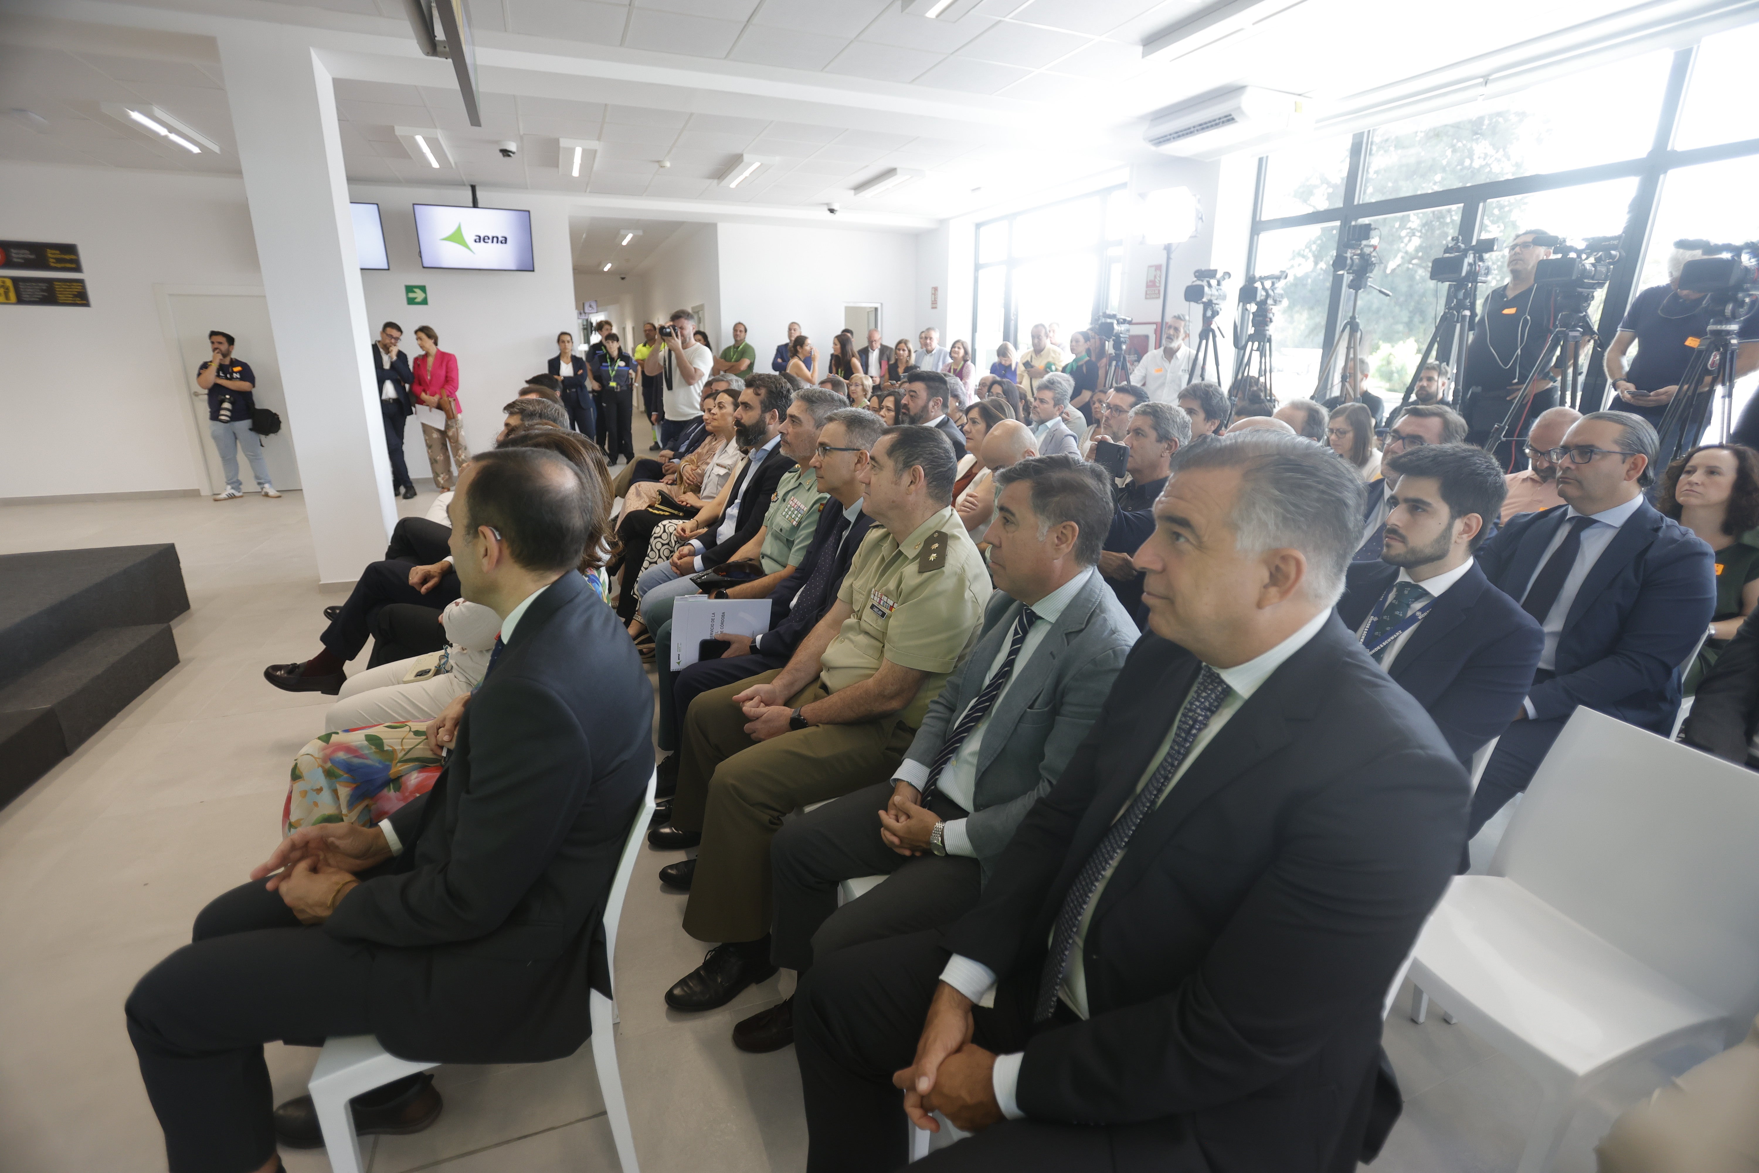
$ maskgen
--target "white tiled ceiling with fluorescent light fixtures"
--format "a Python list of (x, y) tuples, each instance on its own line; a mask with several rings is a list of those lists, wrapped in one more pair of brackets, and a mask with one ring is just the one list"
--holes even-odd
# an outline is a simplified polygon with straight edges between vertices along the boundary
[[(1143, 60), (1145, 40), (1233, 5), (978, 0), (955, 21), (904, 14), (901, 0), (466, 7), (482, 65), (480, 128), (468, 125), (449, 65), (410, 58), (403, 0), (127, 0), (113, 11), (141, 14), (130, 28), (60, 19), (69, 9), (51, 0), (0, 0), (0, 14), (33, 12), (0, 16), (0, 109), (47, 120), (35, 130), (0, 120), (0, 158), (236, 172), (223, 72), (202, 35), (218, 12), (380, 55), (362, 58), (385, 63), (366, 76), (389, 79), (336, 84), (350, 179), (577, 192), (584, 204), (630, 200), (633, 211), (668, 200), (647, 209), (668, 215), (677, 200), (728, 211), (850, 200), (888, 167), (911, 167), (925, 178), (848, 208), (943, 218), (1154, 158), (1140, 142), (1143, 116), (1224, 86), (1303, 93), (1325, 109), (1608, 9), (1604, 0), (1277, 0), (1259, 25), (1210, 49)], [(158, 30), (142, 26), (155, 21)], [(158, 104), (223, 153), (192, 157), (99, 109), (121, 100)], [(440, 128), (454, 162), (436, 172), (412, 160), (398, 125)], [(558, 171), (563, 137), (603, 144), (589, 176)], [(519, 142), (515, 158), (500, 157), (501, 139)], [(737, 190), (718, 186), (741, 153), (776, 164)], [(642, 237), (644, 248), (654, 243)]]

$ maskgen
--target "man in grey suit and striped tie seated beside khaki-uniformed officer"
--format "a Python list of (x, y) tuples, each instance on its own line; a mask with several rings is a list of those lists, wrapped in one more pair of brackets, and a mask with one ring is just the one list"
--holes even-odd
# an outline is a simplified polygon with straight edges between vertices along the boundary
[[(1136, 624), (1094, 570), (1112, 485), (1073, 455), (1029, 457), (996, 473), (990, 572), (1001, 587), (971, 656), (929, 705), (892, 783), (857, 790), (777, 832), (770, 844), (770, 960), (814, 958), (957, 920), (990, 862), (1057, 781), (1099, 716)], [(837, 907), (837, 885), (887, 874)], [(792, 1002), (734, 1027), (770, 1052), (793, 1041)]]

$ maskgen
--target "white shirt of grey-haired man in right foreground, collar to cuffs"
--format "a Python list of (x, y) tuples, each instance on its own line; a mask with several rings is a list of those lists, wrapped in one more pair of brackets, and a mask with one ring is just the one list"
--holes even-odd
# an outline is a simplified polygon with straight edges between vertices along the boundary
[[(1215, 733), (1228, 725), (1228, 719), (1240, 710), (1240, 705), (1251, 700), (1252, 693), (1256, 693), (1289, 656), (1305, 647), (1312, 637), (1319, 635), (1319, 628), (1323, 628), (1330, 617), (1332, 612), (1323, 610), (1309, 619), (1300, 631), (1282, 640), (1270, 651), (1233, 668), (1215, 668), (1215, 674), (1228, 684), (1228, 698), (1223, 700), (1215, 716), (1208, 719), (1208, 725), (1205, 725), (1196, 735), (1196, 740), (1191, 742), (1191, 749), (1186, 753), (1184, 761), (1179, 763), (1179, 770), (1173, 774), (1173, 781), (1161, 795), (1161, 802), (1166, 802), (1166, 795), (1173, 793), (1173, 788), (1179, 786), (1179, 779), (1186, 776), (1191, 763), (1198, 760), (1198, 754), (1201, 754), (1203, 749), (1215, 740)], [(1113, 821), (1129, 809), (1129, 802), (1135, 800), (1136, 793), (1149, 784), (1149, 779), (1154, 777), (1154, 772), (1161, 767), (1161, 761), (1173, 746), (1173, 733), (1179, 732), (1179, 714), (1184, 712), (1186, 703), (1189, 702), (1191, 695), (1187, 691), (1186, 698), (1179, 703), (1179, 712), (1175, 712), (1173, 719), (1166, 725), (1166, 737), (1163, 737), (1159, 747), (1149, 754), (1147, 769), (1142, 772), (1142, 777), (1136, 779), (1136, 788), (1131, 791), (1129, 800), (1126, 800), (1124, 805), (1119, 807), (1117, 814), (1113, 814)], [(1126, 846), (1124, 851), (1129, 851), (1129, 848)], [(1124, 858), (1122, 853), (1119, 853), (1119, 858)], [(1087, 1016), (1087, 973), (1082, 967), (1082, 946), (1087, 939), (1087, 922), (1092, 920), (1094, 909), (1099, 907), (1099, 897), (1105, 892), (1106, 883), (1112, 879), (1113, 871), (1117, 871), (1117, 860), (1113, 860), (1112, 867), (1106, 869), (1106, 874), (1099, 878), (1099, 886), (1094, 888), (1094, 895), (1087, 902), (1087, 909), (1082, 913), (1080, 929), (1075, 932), (1075, 946), (1069, 950), (1069, 971), (1064, 974), (1062, 987), (1059, 988), (1062, 1001), (1082, 1018)], [(1055, 929), (1052, 929), (1052, 936), (1055, 936)], [(996, 994), (996, 973), (989, 965), (974, 962), (969, 957), (960, 957), (959, 953), (953, 953), (946, 960), (946, 967), (941, 971), (941, 981), (978, 1004), (990, 1004)], [(996, 1103), (1001, 1106), (1003, 1115), (1010, 1120), (1020, 1120), (1025, 1117), (1015, 1099), (1015, 1089), (1020, 1082), (1022, 1059), (1025, 1059), (1025, 1052), (996, 1055), (992, 1087), (996, 1090)]]

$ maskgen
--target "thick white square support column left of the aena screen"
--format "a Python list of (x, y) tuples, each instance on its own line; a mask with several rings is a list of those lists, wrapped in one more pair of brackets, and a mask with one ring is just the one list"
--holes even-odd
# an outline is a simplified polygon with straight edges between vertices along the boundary
[[(220, 60), (322, 584), (398, 521), (329, 70), (290, 28), (227, 28)], [(417, 443), (420, 443), (417, 440)]]

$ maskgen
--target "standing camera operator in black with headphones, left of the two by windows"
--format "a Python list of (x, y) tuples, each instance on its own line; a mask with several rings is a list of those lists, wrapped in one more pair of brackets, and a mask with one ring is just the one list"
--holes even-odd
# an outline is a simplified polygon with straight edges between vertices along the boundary
[[(1509, 244), (1509, 281), (1485, 294), (1485, 310), (1465, 350), (1465, 371), (1460, 385), (1467, 389), (1460, 403), (1465, 417), (1465, 441), (1483, 447), (1490, 433), (1509, 413), (1509, 404), (1522, 392), (1522, 380), (1534, 369), (1551, 332), (1551, 292), (1534, 285), (1534, 271), (1551, 255), (1550, 244), (1539, 239), (1555, 237), (1539, 230), (1525, 230)], [(1518, 473), (1525, 464), (1522, 438), (1532, 431), (1539, 413), (1557, 406), (1557, 380), (1553, 371), (1534, 378), (1534, 397), (1516, 417), (1509, 433), (1497, 445), (1493, 457), (1504, 470)]]

